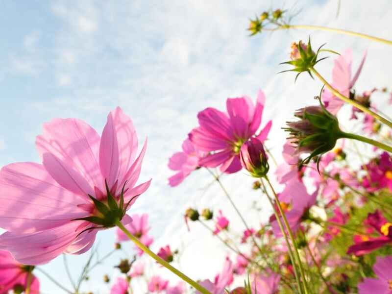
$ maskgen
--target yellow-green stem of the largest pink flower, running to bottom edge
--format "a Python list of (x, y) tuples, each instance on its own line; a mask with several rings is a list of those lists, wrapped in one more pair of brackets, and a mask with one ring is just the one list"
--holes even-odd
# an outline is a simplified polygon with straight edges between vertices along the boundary
[(182, 280), (187, 282), (189, 285), (194, 287), (197, 291), (199, 291), (202, 294), (211, 294), (207, 289), (196, 283), (194, 280), (192, 280), (190, 277), (182, 273), (181, 271), (177, 270), (174, 268), (172, 265), (170, 265), (168, 262), (164, 261), (162, 258), (160, 258), (158, 255), (156, 255), (154, 252), (152, 252), (146, 245), (141, 243), (138, 238), (133, 236), (121, 223), (121, 221), (117, 220), (116, 225), (124, 232), (124, 234), (131, 240), (133, 243), (135, 243), (140, 249), (142, 249), (147, 255), (152, 257), (155, 261), (157, 261), (159, 264), (167, 268), (168, 270), (172, 271), (172, 273), (176, 274), (178, 277), (180, 277)]

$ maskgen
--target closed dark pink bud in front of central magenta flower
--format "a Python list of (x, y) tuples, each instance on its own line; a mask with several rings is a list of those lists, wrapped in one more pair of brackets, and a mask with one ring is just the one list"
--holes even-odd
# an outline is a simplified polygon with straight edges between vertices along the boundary
[(263, 143), (256, 138), (250, 138), (242, 145), (240, 160), (242, 167), (256, 178), (264, 177), (270, 169)]

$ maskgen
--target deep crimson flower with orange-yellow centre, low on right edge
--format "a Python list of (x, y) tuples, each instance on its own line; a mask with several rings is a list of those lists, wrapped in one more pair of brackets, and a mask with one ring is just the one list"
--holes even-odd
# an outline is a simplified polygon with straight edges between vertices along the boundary
[(348, 247), (347, 254), (364, 255), (392, 243), (392, 223), (388, 222), (379, 210), (369, 213), (365, 224), (374, 229), (380, 237), (354, 236), (355, 244)]

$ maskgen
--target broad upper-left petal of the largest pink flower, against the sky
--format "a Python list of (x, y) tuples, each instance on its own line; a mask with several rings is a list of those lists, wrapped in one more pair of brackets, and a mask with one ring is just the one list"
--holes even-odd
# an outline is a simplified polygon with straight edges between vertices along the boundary
[(41, 157), (52, 153), (79, 172), (91, 187), (102, 185), (98, 165), (99, 135), (87, 123), (76, 119), (55, 119), (44, 124), (36, 147)]

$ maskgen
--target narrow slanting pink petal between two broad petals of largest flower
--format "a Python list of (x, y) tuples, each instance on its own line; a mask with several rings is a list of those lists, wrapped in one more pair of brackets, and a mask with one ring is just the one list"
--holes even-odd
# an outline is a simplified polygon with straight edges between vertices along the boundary
[(43, 155), (43, 165), (50, 176), (63, 188), (80, 196), (94, 195), (93, 188), (72, 166), (61, 161), (52, 153)]

